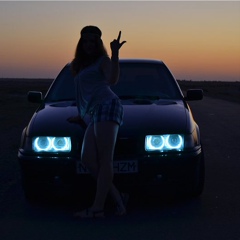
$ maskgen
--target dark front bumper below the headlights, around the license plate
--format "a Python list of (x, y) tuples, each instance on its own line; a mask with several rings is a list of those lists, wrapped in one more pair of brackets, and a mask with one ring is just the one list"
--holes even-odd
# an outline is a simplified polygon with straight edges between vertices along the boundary
[[(203, 152), (171, 155), (144, 155), (116, 157), (116, 161), (138, 162), (138, 172), (115, 174), (114, 183), (121, 191), (141, 189), (148, 192), (190, 187), (203, 158)], [(71, 186), (78, 189), (92, 184), (90, 174), (77, 174), (77, 157), (30, 156), (19, 151), (22, 177), (32, 185)]]

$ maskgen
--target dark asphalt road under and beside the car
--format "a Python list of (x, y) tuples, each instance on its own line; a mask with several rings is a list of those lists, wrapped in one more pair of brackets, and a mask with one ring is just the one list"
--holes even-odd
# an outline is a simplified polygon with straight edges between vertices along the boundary
[[(201, 197), (173, 202), (148, 198), (132, 204), (122, 218), (76, 221), (71, 201), (28, 204), (18, 174), (13, 174), (1, 199), (1, 240), (239, 240), (240, 104), (205, 98), (190, 106), (205, 150)], [(18, 169), (16, 160), (9, 164)]]

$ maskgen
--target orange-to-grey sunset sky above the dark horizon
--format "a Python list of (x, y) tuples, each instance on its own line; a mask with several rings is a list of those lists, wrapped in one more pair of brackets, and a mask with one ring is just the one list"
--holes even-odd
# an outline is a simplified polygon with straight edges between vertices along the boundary
[(163, 60), (177, 79), (240, 81), (240, 1), (0, 1), (0, 78), (55, 78), (97, 25), (122, 58)]

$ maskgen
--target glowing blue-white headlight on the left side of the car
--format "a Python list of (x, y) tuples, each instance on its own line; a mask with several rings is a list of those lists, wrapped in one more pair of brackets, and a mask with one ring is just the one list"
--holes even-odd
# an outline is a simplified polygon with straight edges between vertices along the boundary
[(70, 137), (35, 137), (32, 142), (35, 152), (70, 152)]

